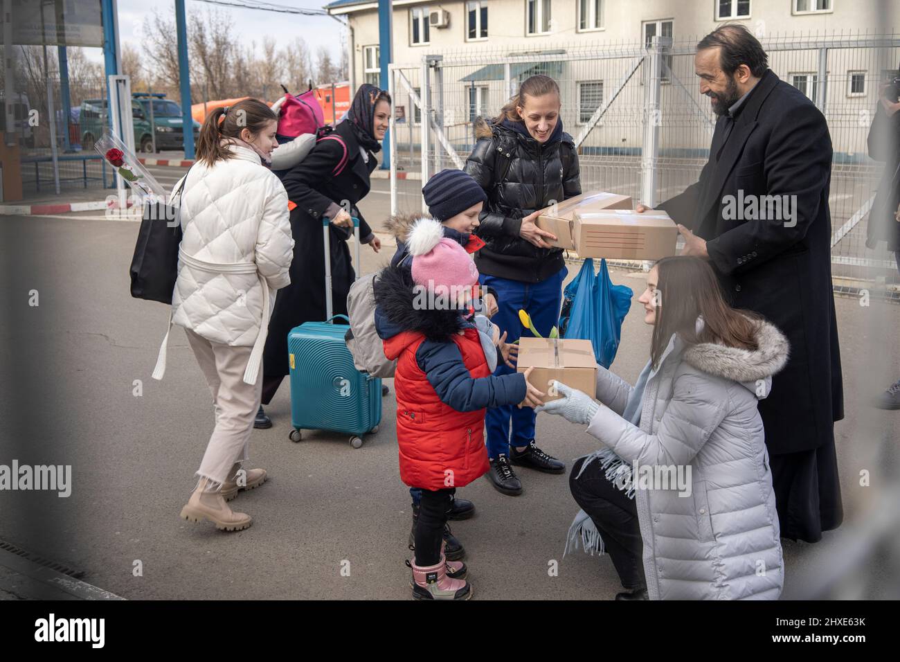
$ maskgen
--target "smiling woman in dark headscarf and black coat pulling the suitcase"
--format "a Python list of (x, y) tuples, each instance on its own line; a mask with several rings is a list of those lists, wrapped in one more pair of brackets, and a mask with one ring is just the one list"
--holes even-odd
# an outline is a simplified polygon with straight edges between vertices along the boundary
[[(291, 212), (295, 249), (291, 285), (278, 292), (263, 355), (262, 404), (272, 401), (289, 372), (287, 334), (303, 322), (325, 320), (325, 256), (322, 218), (328, 218), (331, 245), (331, 293), (334, 313), (347, 314), (347, 292), (354, 280), (347, 240), (353, 236), (352, 217), (359, 218), (359, 236), (375, 252), (375, 237), (356, 203), (369, 193), (369, 176), (377, 166), (375, 152), (382, 149), (391, 116), (391, 96), (363, 85), (347, 115), (333, 131), (320, 138), (311, 152), (282, 177)], [(339, 322), (339, 321), (338, 321)], [(262, 405), (257, 428), (272, 427)]]

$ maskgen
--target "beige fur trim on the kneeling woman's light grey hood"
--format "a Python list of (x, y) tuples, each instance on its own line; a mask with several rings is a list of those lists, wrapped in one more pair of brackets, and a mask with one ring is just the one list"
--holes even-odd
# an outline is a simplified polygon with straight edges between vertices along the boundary
[[(761, 321), (756, 331), (757, 349), (725, 347), (701, 342), (685, 349), (684, 360), (708, 375), (741, 382), (751, 388), (770, 377), (788, 362), (789, 344), (784, 334), (770, 322)], [(751, 388), (752, 391), (757, 389)], [(768, 391), (768, 389), (767, 389)]]

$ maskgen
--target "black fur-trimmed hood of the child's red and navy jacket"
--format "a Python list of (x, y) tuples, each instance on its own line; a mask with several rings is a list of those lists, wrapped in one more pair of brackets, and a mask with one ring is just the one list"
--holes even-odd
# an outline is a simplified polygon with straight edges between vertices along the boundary
[(456, 331), (472, 325), (463, 319), (465, 311), (432, 310), (415, 305), (415, 287), (409, 267), (383, 268), (375, 277), (375, 329), (382, 340), (412, 331), (428, 340), (447, 342)]

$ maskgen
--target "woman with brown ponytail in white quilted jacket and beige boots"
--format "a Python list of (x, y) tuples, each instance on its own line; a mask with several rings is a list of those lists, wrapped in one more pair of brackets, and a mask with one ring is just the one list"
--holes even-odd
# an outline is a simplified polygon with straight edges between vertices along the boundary
[[(262, 393), (259, 372), (275, 291), (291, 282), (287, 194), (267, 167), (278, 145), (277, 119), (256, 99), (214, 110), (203, 122), (197, 162), (180, 200), (183, 239), (172, 323), (184, 327), (215, 408), (200, 479), (181, 516), (224, 531), (251, 523), (226, 502), (266, 481), (264, 469), (242, 463)], [(157, 379), (166, 367), (167, 338)]]

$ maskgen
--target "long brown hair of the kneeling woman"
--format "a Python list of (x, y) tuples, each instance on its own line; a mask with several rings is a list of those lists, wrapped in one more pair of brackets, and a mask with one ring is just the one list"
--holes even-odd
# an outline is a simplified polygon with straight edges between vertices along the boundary
[[(657, 269), (659, 292), (650, 358), (659, 367), (673, 333), (694, 345), (716, 342), (726, 347), (757, 349), (756, 332), (761, 318), (725, 303), (713, 268), (701, 258), (662, 258)], [(703, 330), (697, 332), (697, 318)]]

